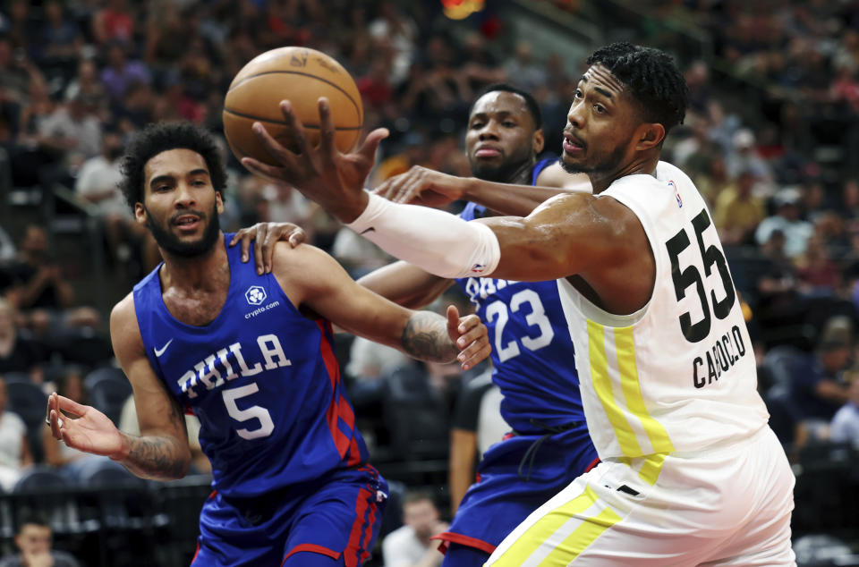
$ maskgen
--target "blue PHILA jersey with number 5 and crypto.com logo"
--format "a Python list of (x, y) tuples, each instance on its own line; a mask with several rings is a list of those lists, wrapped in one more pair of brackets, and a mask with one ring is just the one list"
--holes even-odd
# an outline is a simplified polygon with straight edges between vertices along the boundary
[(160, 266), (134, 286), (149, 363), (200, 419), (212, 486), (250, 498), (366, 461), (330, 324), (303, 317), (274, 275), (240, 261), (240, 247), (226, 254), (229, 291), (206, 326), (166, 309)]

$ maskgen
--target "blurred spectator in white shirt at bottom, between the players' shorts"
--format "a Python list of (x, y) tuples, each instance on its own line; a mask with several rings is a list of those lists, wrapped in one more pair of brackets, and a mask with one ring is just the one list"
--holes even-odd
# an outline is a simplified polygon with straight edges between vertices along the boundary
[(403, 523), (382, 541), (385, 567), (437, 567), (442, 555), (430, 541), (447, 529), (436, 503), (426, 492), (410, 492), (403, 499)]

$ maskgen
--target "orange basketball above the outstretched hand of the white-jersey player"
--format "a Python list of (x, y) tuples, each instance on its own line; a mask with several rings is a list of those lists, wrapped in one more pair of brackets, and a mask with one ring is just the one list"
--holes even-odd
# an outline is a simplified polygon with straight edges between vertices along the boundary
[(248, 156), (277, 165), (251, 130), (262, 123), (286, 148), (294, 148), (280, 101), (289, 100), (311, 145), (319, 143), (319, 97), (327, 97), (340, 151), (353, 148), (361, 136), (361, 94), (343, 65), (315, 49), (279, 47), (242, 67), (226, 91), (224, 133), (235, 157)]

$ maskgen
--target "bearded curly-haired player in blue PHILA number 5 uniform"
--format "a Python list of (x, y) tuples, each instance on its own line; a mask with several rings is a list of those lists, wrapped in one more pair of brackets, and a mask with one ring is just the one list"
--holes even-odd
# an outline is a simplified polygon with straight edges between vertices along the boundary
[(190, 124), (132, 141), (123, 190), (165, 258), (111, 314), (141, 435), (57, 394), (50, 426), (140, 477), (181, 478), (191, 457), (182, 413), (192, 411), (214, 477), (194, 565), (361, 565), (387, 485), (355, 428), (328, 320), (422, 360), (461, 351), (464, 367), (488, 355), (486, 329), (455, 308), (446, 321), (384, 300), (310, 246), (278, 247), (276, 268), (257, 275), (218, 228), (224, 182), (217, 146)]

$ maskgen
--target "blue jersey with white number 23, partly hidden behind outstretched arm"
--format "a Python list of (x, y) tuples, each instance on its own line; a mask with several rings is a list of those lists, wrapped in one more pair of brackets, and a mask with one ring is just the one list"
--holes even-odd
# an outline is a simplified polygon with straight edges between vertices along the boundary
[[(532, 184), (555, 161), (538, 162)], [(484, 212), (484, 207), (469, 203), (460, 216), (472, 220)], [(489, 328), (492, 379), (504, 394), (501, 415), (507, 424), (519, 432), (536, 432), (542, 426), (583, 423), (573, 341), (557, 283), (490, 277), (459, 278), (456, 283)]]

